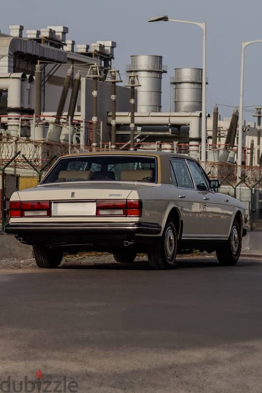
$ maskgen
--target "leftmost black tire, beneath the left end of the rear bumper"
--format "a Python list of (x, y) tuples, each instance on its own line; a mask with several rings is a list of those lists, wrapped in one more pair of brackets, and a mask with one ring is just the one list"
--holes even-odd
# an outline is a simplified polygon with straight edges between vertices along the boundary
[(50, 250), (45, 246), (34, 244), (33, 255), (38, 267), (55, 269), (61, 263), (63, 252), (58, 250)]

